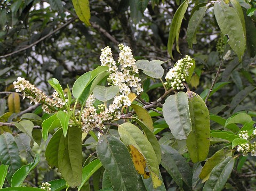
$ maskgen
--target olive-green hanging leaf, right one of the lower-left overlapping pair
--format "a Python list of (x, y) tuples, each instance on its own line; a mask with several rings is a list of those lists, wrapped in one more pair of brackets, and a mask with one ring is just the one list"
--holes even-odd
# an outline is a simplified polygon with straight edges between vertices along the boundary
[(82, 181), (81, 140), (81, 128), (71, 126), (68, 128), (67, 136), (62, 135), (58, 144), (58, 168), (72, 188), (81, 185)]

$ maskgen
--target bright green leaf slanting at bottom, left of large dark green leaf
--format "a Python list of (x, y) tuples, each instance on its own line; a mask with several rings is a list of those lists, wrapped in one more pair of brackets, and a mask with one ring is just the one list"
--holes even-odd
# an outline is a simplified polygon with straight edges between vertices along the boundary
[(82, 184), (78, 186), (78, 190), (82, 188), (82, 186), (85, 184), (87, 180), (93, 175), (94, 172), (96, 172), (100, 167), (102, 167), (102, 164), (99, 159), (96, 159), (89, 164), (87, 164), (83, 168), (82, 172)]

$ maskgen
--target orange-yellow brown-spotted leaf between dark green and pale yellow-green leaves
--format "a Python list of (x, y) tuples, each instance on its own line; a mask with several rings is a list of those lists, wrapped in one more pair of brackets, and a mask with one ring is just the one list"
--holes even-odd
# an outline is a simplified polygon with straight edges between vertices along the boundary
[(129, 145), (132, 162), (136, 171), (143, 175), (143, 178), (149, 178), (149, 172), (145, 169), (147, 167), (145, 157), (133, 145)]

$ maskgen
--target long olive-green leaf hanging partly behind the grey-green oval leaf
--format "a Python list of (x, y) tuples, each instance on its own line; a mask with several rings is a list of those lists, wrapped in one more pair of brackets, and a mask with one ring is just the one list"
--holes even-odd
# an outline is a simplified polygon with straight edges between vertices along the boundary
[(188, 153), (192, 162), (206, 159), (210, 146), (210, 117), (203, 99), (194, 92), (187, 92), (191, 132), (187, 138)]

